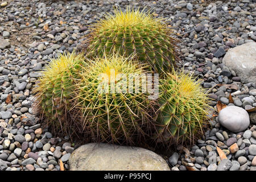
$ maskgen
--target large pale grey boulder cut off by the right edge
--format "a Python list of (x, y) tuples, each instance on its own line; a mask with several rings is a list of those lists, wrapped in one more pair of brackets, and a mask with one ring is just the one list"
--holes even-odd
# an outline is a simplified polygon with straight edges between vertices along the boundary
[(233, 69), (242, 82), (256, 82), (256, 42), (230, 48), (222, 63)]

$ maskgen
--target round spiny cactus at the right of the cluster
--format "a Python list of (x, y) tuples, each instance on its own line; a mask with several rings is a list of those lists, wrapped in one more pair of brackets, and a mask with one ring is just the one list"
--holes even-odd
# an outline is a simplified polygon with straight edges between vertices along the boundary
[(168, 144), (182, 143), (203, 134), (209, 119), (209, 98), (200, 80), (188, 73), (168, 73), (159, 80), (159, 113), (156, 119), (159, 139)]

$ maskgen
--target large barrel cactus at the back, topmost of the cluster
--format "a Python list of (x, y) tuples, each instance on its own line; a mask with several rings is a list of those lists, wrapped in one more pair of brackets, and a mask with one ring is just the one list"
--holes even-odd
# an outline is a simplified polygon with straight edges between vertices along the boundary
[(170, 71), (179, 62), (177, 40), (171, 34), (167, 24), (153, 18), (150, 11), (115, 10), (114, 15), (108, 14), (92, 28), (88, 56), (136, 53), (139, 61), (148, 64), (147, 69), (157, 73)]

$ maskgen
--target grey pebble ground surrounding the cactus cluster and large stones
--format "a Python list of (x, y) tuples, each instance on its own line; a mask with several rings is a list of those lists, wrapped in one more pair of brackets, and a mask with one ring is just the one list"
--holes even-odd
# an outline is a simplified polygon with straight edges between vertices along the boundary
[[(205, 1), (205, 2), (204, 2)], [(53, 138), (36, 123), (32, 112), (32, 86), (49, 58), (80, 47), (90, 24), (113, 12), (113, 6), (152, 9), (181, 39), (181, 59), (187, 72), (203, 78), (217, 101), (244, 109), (256, 106), (255, 82), (241, 82), (236, 72), (222, 64), (229, 48), (256, 41), (254, 0), (241, 1), (40, 1), (46, 16), (39, 16), (39, 1), (0, 3), (0, 171), (60, 170), (59, 159), (69, 169), (69, 156), (79, 146), (68, 137)], [(212, 15), (209, 10), (213, 10)], [(216, 86), (229, 84), (229, 86)], [(230, 87), (230, 84), (233, 86)], [(234, 103), (229, 103), (232, 93)], [(27, 119), (26, 117), (29, 119)], [(232, 133), (218, 122), (188, 150), (164, 156), (170, 168), (180, 170), (256, 170), (256, 115), (249, 127)], [(220, 162), (217, 147), (227, 159)]]

